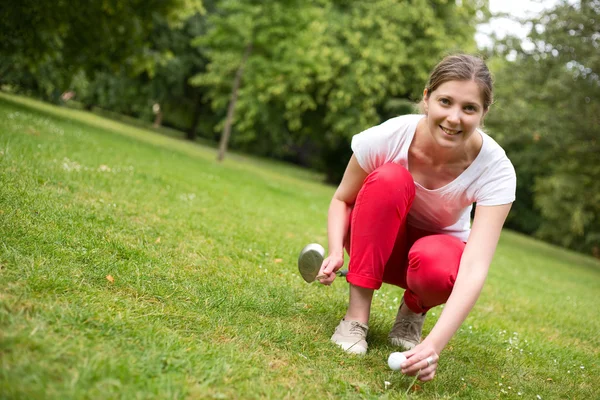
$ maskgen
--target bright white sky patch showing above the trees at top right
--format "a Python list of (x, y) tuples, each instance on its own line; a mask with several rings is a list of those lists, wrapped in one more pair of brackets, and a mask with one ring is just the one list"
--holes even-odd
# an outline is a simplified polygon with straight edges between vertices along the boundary
[[(523, 18), (536, 16), (541, 11), (556, 5), (559, 0), (489, 0), (489, 2), (492, 13), (506, 12)], [(507, 32), (525, 37), (529, 33), (529, 29), (525, 25), (507, 18), (493, 19), (489, 24), (483, 24), (477, 28), (475, 39), (479, 47), (491, 45), (491, 41), (486, 37), (486, 34), (491, 32), (496, 32), (499, 37), (505, 36)]]

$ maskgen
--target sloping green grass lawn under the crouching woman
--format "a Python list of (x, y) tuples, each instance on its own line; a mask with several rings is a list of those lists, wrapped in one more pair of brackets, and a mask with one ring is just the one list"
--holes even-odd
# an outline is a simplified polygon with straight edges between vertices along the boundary
[(504, 232), (411, 387), (385, 362), (401, 289), (347, 357), (347, 284), (296, 274), (326, 240), (318, 175), (5, 94), (0, 120), (0, 398), (600, 398), (596, 260)]

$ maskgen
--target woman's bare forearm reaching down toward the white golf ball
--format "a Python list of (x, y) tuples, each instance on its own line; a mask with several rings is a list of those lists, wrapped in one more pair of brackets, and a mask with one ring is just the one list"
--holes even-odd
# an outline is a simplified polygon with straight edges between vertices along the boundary
[(469, 315), (479, 298), (486, 276), (487, 268), (461, 265), (442, 315), (425, 339), (436, 348), (438, 354)]

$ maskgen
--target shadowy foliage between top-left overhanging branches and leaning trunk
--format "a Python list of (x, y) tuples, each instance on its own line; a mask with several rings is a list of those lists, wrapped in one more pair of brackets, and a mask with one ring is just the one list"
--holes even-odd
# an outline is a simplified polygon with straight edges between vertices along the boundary
[[(201, 97), (188, 79), (205, 67), (203, 55), (190, 42), (204, 29), (205, 18), (200, 14), (188, 17), (176, 27), (155, 15), (145, 49), (148, 63), (135, 69), (134, 60), (128, 59), (117, 72), (101, 70), (93, 77), (75, 80), (72, 88), (77, 99), (89, 106), (145, 120), (153, 119), (152, 105), (159, 103), (167, 124), (188, 129)], [(205, 118), (210, 119), (206, 114)]]

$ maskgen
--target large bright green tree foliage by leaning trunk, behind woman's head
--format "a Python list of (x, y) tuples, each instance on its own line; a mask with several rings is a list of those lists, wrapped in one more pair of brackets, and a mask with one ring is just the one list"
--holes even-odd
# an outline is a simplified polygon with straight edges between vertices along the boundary
[[(229, 101), (246, 44), (234, 143), (285, 157), (308, 146), (310, 163), (339, 179), (348, 141), (381, 122), (390, 98), (416, 99), (429, 69), (452, 49), (474, 48), (486, 3), (377, 0), (223, 1), (198, 39), (210, 64), (192, 82), (213, 109)], [(217, 129), (221, 129), (218, 126)], [(327, 157), (328, 154), (340, 157)]]

